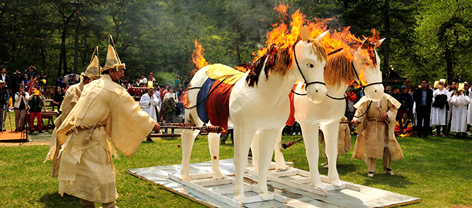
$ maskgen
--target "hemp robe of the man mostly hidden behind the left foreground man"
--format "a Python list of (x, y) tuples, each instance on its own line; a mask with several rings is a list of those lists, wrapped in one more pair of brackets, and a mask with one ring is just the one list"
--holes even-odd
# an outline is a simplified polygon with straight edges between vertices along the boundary
[(59, 150), (61, 149), (61, 146), (64, 144), (64, 141), (58, 141), (57, 140), (57, 128), (61, 126), (62, 120), (67, 118), (69, 115), (70, 111), (74, 109), (75, 104), (77, 104), (77, 101), (80, 98), (80, 95), (82, 94), (82, 90), (84, 90), (84, 80), (81, 80), (78, 84), (74, 84), (67, 89), (66, 93), (64, 94), (64, 100), (62, 100), (62, 104), (60, 106), (60, 110), (62, 111), (62, 114), (60, 116), (57, 116), (57, 119), (54, 121), (54, 130), (52, 131), (52, 138), (51, 138), (51, 143), (49, 146), (49, 152), (46, 155), (46, 162), (47, 160), (52, 160), (51, 164), (51, 174), (52, 177), (57, 177), (57, 172), (59, 171), (59, 163), (57, 163), (60, 158), (57, 158), (59, 156)]

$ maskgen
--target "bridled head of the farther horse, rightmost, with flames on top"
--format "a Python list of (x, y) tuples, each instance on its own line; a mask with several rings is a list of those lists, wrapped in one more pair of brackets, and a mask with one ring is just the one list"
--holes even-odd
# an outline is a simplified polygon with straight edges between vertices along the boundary
[(356, 81), (364, 87), (364, 94), (367, 99), (374, 102), (383, 97), (382, 74), (380, 70), (380, 58), (378, 58), (376, 48), (380, 46), (385, 38), (371, 43), (369, 39), (354, 51), (354, 70)]

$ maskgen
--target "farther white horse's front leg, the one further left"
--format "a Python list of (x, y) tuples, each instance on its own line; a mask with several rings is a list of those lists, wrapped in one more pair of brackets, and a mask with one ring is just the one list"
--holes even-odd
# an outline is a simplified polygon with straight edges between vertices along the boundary
[(320, 172), (318, 170), (318, 159), (320, 157), (320, 148), (318, 147), (319, 125), (308, 125), (303, 122), (299, 123), (303, 132), (306, 158), (310, 167), (310, 181), (313, 186), (324, 190), (326, 189), (326, 185), (321, 182)]

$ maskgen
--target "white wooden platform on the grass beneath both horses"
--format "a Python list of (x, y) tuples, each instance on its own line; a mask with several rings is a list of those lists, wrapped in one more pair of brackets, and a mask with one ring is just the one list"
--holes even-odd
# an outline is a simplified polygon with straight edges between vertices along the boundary
[[(250, 161), (249, 164), (250, 166)], [(191, 182), (181, 179), (180, 165), (154, 166), (126, 170), (142, 180), (164, 186), (167, 190), (191, 199), (207, 207), (398, 207), (420, 202), (421, 199), (379, 190), (350, 182), (342, 186), (318, 190), (310, 184), (308, 172), (296, 168), (277, 172), (269, 171), (267, 188), (274, 193), (269, 201), (262, 201), (254, 185), (257, 175), (253, 170), (245, 173), (245, 204), (236, 202), (234, 197), (234, 165), (232, 159), (220, 160), (220, 167), (225, 178), (213, 180), (211, 162), (192, 163)], [(273, 169), (272, 167), (271, 169)], [(252, 172), (252, 173), (251, 173)], [(322, 182), (327, 177), (322, 175)], [(326, 196), (323, 196), (326, 193)]]

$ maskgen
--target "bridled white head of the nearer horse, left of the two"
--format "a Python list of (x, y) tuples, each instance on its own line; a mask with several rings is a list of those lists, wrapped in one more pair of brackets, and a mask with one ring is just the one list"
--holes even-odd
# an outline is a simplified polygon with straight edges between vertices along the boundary
[(327, 55), (321, 44), (322, 38), (328, 31), (322, 33), (316, 39), (310, 39), (310, 31), (304, 26), (301, 32), (301, 40), (293, 45), (292, 70), (301, 82), (304, 82), (308, 99), (315, 104), (323, 101), (327, 89), (323, 77)]

